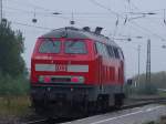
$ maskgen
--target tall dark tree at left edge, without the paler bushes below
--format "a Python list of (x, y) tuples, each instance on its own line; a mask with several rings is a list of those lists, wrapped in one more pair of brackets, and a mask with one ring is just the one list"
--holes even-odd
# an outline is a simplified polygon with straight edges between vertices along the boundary
[(25, 72), (21, 54), (24, 51), (24, 38), (20, 31), (13, 31), (10, 23), (0, 24), (0, 71), (14, 78)]

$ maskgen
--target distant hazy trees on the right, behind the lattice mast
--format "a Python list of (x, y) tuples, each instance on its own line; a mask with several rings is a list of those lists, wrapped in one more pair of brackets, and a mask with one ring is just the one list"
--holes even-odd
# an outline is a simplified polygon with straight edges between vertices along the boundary
[[(146, 74), (133, 78), (133, 84), (125, 86), (129, 92), (137, 94), (156, 94), (158, 89), (166, 90), (166, 72), (156, 72), (151, 74), (151, 82), (146, 82)], [(128, 92), (127, 91), (127, 92)]]

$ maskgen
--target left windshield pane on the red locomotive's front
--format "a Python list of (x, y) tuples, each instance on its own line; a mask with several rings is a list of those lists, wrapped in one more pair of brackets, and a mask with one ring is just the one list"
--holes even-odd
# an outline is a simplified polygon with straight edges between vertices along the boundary
[(39, 48), (40, 53), (59, 53), (60, 52), (60, 41), (43, 41)]

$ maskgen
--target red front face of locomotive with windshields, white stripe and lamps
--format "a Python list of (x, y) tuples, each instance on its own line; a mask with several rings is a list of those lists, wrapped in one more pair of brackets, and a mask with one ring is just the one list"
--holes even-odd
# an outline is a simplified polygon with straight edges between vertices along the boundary
[(86, 84), (94, 59), (89, 40), (39, 39), (32, 55), (32, 85)]

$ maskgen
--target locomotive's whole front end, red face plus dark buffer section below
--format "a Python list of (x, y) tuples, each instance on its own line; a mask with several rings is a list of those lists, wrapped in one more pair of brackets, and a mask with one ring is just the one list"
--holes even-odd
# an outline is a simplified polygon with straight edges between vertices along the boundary
[(87, 39), (39, 38), (31, 61), (31, 95), (35, 107), (43, 101), (55, 105), (61, 101), (82, 103), (91, 94), (95, 78), (92, 48)]

